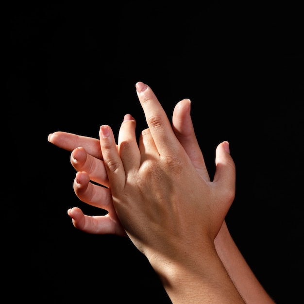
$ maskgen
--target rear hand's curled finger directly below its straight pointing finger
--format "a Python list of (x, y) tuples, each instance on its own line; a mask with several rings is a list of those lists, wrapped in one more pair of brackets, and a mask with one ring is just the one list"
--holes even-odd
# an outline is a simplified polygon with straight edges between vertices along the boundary
[[(101, 150), (100, 146), (99, 150)], [(72, 151), (70, 161), (77, 171), (87, 172), (91, 181), (106, 187), (109, 186), (103, 161), (88, 154), (83, 147), (78, 147)]]

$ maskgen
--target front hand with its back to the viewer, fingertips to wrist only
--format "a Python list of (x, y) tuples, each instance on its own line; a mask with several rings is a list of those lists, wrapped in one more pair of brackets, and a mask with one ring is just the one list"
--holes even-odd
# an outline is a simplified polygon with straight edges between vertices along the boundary
[(139, 146), (130, 115), (121, 125), (118, 149), (111, 128), (104, 125), (100, 131), (118, 217), (147, 256), (149, 248), (162, 252), (158, 248), (162, 244), (171, 244), (165, 254), (173, 260), (174, 253), (180, 252), (178, 246), (185, 252), (189, 246), (197, 246), (195, 251), (202, 252), (205, 242), (214, 242), (234, 199), (235, 167), (228, 143), (217, 148), (217, 169), (210, 182), (205, 168), (200, 168), (200, 175), (192, 164), (152, 90), (141, 83), (137, 90), (149, 126), (142, 132)]

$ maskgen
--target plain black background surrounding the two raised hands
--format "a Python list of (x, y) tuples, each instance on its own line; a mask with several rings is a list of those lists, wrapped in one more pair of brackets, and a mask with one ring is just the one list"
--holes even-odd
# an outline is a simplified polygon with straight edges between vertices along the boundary
[(24, 2), (8, 14), (2, 235), (10, 297), (170, 303), (132, 243), (72, 226), (68, 208), (96, 210), (73, 192), (70, 153), (47, 141), (54, 131), (98, 138), (101, 124), (117, 134), (126, 113), (144, 129), (135, 93), (143, 81), (169, 118), (178, 101), (191, 99), (211, 176), (216, 146), (230, 142), (237, 180), (228, 227), (276, 303), (297, 303), (304, 270), (297, 2), (77, 3)]

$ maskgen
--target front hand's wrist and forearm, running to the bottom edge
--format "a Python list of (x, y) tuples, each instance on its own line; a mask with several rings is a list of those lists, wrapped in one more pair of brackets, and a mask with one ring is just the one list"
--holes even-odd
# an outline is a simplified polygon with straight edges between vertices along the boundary
[(172, 303), (244, 303), (213, 242), (200, 252), (185, 255), (172, 259), (155, 254), (148, 258)]

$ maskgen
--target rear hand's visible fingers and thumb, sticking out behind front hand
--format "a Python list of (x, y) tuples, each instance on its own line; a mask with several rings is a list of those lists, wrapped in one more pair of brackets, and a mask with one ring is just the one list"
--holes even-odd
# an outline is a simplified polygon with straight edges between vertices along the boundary
[[(172, 129), (199, 174), (208, 176), (190, 117), (189, 100), (182, 100), (176, 104), (172, 116)], [(77, 173), (82, 183), (74, 182), (74, 190), (78, 198), (99, 207), (102, 202), (107, 202), (106, 205), (103, 203), (103, 208), (109, 211), (107, 216), (87, 216), (78, 207), (69, 209), (68, 215), (72, 218), (73, 225), (86, 233), (126, 236), (110, 203), (112, 198), (109, 191), (89, 182), (91, 180), (104, 186), (108, 185), (107, 176), (104, 175), (105, 168), (99, 139), (60, 131), (50, 134), (48, 140), (62, 149), (68, 151), (75, 149), (71, 154), (71, 164), (77, 171), (82, 171)]]

